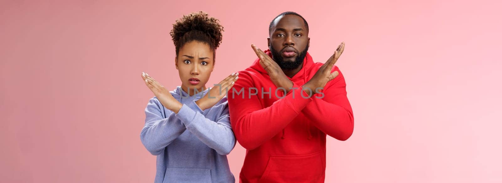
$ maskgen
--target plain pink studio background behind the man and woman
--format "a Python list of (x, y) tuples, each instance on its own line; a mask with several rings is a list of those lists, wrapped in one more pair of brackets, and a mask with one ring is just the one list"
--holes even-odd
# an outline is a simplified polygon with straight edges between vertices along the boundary
[(498, 1), (44, 2), (0, 1), (1, 182), (153, 182), (140, 74), (180, 84), (169, 31), (199, 10), (225, 27), (209, 86), (284, 11), (307, 19), (315, 61), (345, 41), (355, 130), (329, 138), (326, 182), (502, 181)]

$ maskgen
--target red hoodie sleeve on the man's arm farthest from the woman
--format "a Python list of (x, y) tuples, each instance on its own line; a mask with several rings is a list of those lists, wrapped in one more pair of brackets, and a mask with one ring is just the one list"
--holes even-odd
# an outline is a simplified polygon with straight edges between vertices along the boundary
[(354, 130), (354, 116), (347, 99), (345, 79), (338, 67), (335, 70), (339, 74), (328, 82), (328, 87), (323, 90), (324, 97), (319, 99), (313, 96), (313, 102), (302, 113), (312, 119), (312, 124), (322, 132), (338, 140), (347, 140)]

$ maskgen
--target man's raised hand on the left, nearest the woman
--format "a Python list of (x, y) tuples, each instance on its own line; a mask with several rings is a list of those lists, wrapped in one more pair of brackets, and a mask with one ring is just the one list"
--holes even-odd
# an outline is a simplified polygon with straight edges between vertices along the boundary
[(293, 81), (288, 79), (288, 76), (284, 74), (281, 67), (270, 58), (267, 53), (263, 52), (260, 48), (257, 48), (254, 44), (251, 45), (253, 50), (256, 53), (256, 56), (260, 58), (260, 65), (267, 71), (270, 76), (270, 80), (272, 83), (276, 85), (276, 87), (282, 87), (286, 89), (286, 93), (289, 92), (290, 88), (293, 87)]

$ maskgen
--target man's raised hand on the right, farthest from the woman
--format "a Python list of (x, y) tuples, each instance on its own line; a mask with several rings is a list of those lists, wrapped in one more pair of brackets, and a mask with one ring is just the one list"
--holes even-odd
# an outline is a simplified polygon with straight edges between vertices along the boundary
[(338, 76), (338, 71), (331, 72), (331, 70), (333, 69), (333, 65), (335, 65), (340, 55), (343, 53), (343, 49), (345, 49), (345, 42), (342, 42), (338, 46), (338, 48), (335, 50), (335, 53), (331, 55), (328, 61), (326, 61), (326, 63), (324, 63), (321, 68), (317, 70), (314, 76), (303, 85), (302, 88), (305, 92), (319, 93), (320, 91), (318, 90), (318, 88), (324, 88), (328, 81)]

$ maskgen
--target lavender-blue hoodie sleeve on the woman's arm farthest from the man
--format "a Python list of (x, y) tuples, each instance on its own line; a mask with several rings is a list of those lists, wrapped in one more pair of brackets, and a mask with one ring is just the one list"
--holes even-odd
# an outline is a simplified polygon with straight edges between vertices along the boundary
[(150, 99), (145, 109), (145, 127), (140, 134), (141, 142), (153, 155), (161, 154), (164, 148), (186, 130), (174, 112), (166, 110), (164, 118), (161, 110), (164, 110), (164, 106), (157, 98)]

